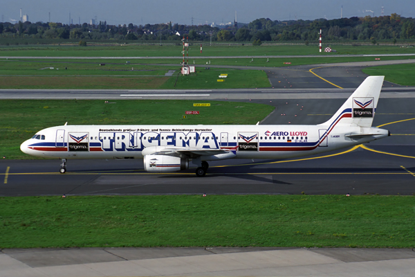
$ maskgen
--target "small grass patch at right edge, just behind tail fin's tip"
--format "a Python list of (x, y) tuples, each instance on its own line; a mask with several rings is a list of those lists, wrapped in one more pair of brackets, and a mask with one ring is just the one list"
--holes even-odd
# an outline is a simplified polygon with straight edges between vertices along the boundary
[(385, 75), (385, 80), (403, 86), (415, 86), (415, 64), (391, 64), (362, 69), (369, 75)]

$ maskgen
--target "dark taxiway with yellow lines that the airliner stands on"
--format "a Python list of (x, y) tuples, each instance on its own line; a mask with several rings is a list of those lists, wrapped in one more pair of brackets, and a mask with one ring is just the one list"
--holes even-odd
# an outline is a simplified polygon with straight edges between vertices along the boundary
[[(275, 111), (261, 124), (318, 124), (329, 119), (344, 99), (275, 100)], [(412, 195), (415, 177), (414, 98), (381, 99), (375, 126), (392, 136), (317, 157), (286, 161), (225, 160), (210, 162), (208, 175), (194, 168), (164, 175), (143, 170), (142, 159), (60, 161), (0, 160), (7, 184), (1, 196), (15, 195), (156, 195), (156, 194), (358, 194)], [(273, 130), (271, 130), (273, 131)], [(317, 159), (315, 159), (317, 158)]]

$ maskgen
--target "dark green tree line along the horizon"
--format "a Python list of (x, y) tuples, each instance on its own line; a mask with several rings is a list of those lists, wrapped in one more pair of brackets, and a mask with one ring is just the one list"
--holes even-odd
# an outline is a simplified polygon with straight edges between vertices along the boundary
[(191, 41), (218, 42), (317, 42), (322, 29), (324, 41), (385, 41), (388, 39), (415, 39), (415, 19), (396, 13), (382, 17), (350, 17), (342, 19), (315, 19), (278, 21), (255, 19), (239, 28), (188, 26), (181, 24), (109, 25), (62, 24), (29, 21), (16, 24), (0, 23), (1, 38), (72, 39), (72, 40), (169, 40), (180, 41), (185, 35)]

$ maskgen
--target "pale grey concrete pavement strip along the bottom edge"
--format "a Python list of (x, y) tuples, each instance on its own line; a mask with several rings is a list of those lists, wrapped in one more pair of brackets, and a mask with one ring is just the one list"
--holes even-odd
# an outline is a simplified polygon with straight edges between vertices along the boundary
[(3, 249), (3, 276), (414, 276), (412, 249)]

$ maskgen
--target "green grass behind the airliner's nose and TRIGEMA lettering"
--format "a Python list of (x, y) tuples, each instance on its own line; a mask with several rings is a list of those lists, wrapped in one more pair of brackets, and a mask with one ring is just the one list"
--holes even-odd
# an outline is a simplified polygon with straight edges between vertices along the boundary
[[(20, 144), (46, 127), (64, 125), (256, 124), (274, 107), (254, 103), (197, 100), (0, 100), (0, 156), (33, 159)], [(182, 116), (185, 111), (199, 115)]]

